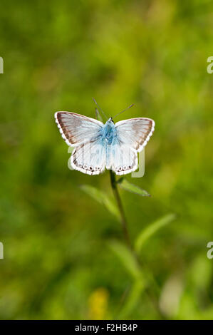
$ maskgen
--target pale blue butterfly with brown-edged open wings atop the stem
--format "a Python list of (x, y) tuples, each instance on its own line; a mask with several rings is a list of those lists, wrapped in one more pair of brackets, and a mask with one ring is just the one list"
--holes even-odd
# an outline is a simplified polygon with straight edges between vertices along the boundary
[(106, 123), (70, 112), (56, 112), (56, 123), (62, 138), (74, 147), (73, 169), (88, 175), (99, 175), (106, 169), (116, 175), (137, 170), (139, 153), (150, 140), (155, 121), (150, 118), (130, 118)]

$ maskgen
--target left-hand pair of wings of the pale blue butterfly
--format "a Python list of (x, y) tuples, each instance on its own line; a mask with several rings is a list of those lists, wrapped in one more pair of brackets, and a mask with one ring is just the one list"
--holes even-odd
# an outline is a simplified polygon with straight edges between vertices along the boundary
[(88, 175), (98, 175), (105, 170), (105, 148), (100, 142), (103, 123), (84, 115), (56, 112), (56, 123), (63, 139), (75, 147), (71, 166)]

